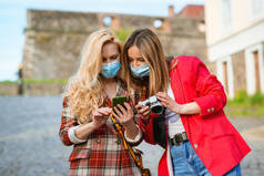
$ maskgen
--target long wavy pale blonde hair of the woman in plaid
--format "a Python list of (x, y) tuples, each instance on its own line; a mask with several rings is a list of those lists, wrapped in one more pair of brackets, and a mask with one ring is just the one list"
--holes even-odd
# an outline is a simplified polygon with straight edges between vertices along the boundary
[(79, 70), (70, 77), (63, 94), (79, 124), (91, 122), (92, 114), (103, 104), (100, 72), (105, 43), (115, 43), (122, 54), (122, 45), (110, 30), (101, 29), (91, 33), (82, 48)]

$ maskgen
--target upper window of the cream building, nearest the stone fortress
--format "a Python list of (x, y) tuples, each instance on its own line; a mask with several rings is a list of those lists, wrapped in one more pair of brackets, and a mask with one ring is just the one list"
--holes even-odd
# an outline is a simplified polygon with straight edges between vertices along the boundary
[(222, 0), (222, 31), (223, 34), (232, 29), (232, 7), (231, 0)]

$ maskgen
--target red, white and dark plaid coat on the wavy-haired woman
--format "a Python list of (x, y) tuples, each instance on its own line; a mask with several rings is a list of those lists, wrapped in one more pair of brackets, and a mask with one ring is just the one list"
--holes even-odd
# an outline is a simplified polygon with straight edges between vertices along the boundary
[[(118, 81), (118, 95), (129, 95), (121, 81)], [(130, 103), (134, 104), (135, 99), (130, 99)], [(104, 100), (104, 106), (106, 105), (111, 105), (108, 97)], [(87, 142), (81, 144), (73, 144), (68, 136), (69, 128), (77, 125), (79, 125), (77, 118), (69, 112), (64, 99), (59, 135), (64, 145), (73, 145), (69, 157), (70, 176), (141, 175), (110, 118), (106, 124), (89, 135)]]

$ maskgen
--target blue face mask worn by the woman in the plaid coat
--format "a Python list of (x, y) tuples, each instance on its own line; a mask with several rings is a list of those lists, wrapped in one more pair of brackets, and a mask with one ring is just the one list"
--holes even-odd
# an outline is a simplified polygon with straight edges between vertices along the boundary
[(103, 63), (102, 75), (106, 79), (114, 77), (121, 68), (120, 61), (113, 61), (111, 63)]

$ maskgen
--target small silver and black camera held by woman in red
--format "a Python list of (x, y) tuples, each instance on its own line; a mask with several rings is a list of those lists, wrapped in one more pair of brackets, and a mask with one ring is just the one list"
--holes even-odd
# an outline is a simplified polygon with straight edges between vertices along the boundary
[(160, 114), (163, 111), (163, 105), (160, 103), (156, 95), (153, 95), (143, 102), (139, 102), (139, 104), (141, 104), (142, 106), (150, 106), (151, 112), (155, 114)]

